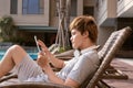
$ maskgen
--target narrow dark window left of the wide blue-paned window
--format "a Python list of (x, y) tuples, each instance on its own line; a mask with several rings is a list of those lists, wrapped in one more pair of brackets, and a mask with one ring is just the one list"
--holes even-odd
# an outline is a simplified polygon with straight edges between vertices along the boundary
[(10, 13), (11, 14), (18, 13), (18, 0), (11, 0)]

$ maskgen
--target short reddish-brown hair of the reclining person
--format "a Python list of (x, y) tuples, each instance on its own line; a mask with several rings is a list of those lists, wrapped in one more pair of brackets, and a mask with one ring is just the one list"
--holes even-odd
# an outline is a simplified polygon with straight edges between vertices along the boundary
[(70, 31), (73, 29), (78, 30), (83, 34), (85, 31), (89, 32), (89, 38), (96, 43), (98, 40), (98, 25), (95, 20), (91, 15), (80, 15), (76, 16), (70, 24)]

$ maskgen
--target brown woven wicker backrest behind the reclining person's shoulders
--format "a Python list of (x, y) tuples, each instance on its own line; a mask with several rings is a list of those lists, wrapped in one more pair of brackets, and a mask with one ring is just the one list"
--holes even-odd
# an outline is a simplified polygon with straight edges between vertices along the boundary
[(132, 29), (130, 26), (126, 26), (120, 31), (114, 31), (110, 35), (102, 50), (99, 52), (99, 56), (101, 59), (100, 67), (93, 75), (92, 79), (88, 81), (88, 86), (85, 86), (86, 88), (94, 88), (96, 86), (103, 73), (110, 66), (110, 63), (115, 56), (117, 50), (122, 46), (122, 44), (125, 42), (131, 33)]

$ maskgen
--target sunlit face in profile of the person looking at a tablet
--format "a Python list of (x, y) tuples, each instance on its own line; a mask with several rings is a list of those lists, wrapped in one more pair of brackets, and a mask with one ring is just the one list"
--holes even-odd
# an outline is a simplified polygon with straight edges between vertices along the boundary
[(72, 43), (72, 47), (73, 48), (81, 48), (82, 47), (82, 43), (83, 43), (83, 35), (81, 35), (81, 33), (73, 29), (71, 31), (71, 43)]

